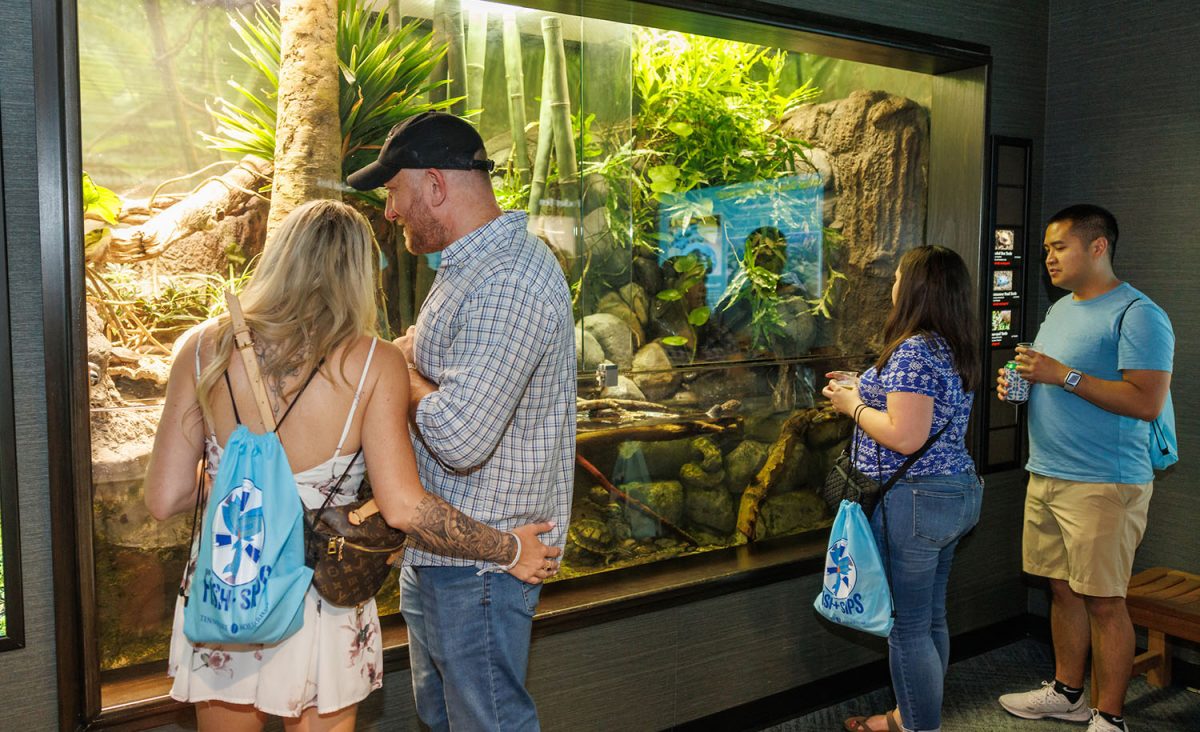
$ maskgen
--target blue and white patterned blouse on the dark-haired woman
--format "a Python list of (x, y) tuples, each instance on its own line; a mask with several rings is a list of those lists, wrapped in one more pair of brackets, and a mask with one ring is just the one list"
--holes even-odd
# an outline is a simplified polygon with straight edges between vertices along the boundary
[[(863, 373), (858, 383), (858, 394), (863, 402), (880, 412), (888, 410), (888, 394), (893, 391), (934, 397), (934, 422), (929, 427), (930, 436), (941, 430), (947, 420), (952, 422), (920, 460), (908, 468), (905, 476), (958, 475), (974, 470), (974, 462), (967, 454), (964, 442), (974, 395), (962, 391), (962, 378), (954, 370), (950, 348), (941, 336), (911, 336), (892, 353), (882, 373), (876, 372), (872, 366)], [(876, 480), (887, 480), (907, 460), (906, 455), (878, 445), (862, 430), (856, 430), (854, 433), (858, 440), (856, 467), (866, 475)], [(877, 448), (878, 457), (876, 457)]]

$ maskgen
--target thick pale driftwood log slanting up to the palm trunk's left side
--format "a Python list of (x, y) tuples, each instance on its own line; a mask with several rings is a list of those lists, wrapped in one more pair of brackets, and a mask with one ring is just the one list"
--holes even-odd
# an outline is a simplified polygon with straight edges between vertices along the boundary
[(254, 188), (271, 178), (271, 163), (246, 156), (224, 175), (209, 179), (192, 194), (134, 227), (116, 227), (108, 245), (109, 262), (142, 262), (162, 254), (170, 245), (196, 232), (211, 229), (257, 196)]

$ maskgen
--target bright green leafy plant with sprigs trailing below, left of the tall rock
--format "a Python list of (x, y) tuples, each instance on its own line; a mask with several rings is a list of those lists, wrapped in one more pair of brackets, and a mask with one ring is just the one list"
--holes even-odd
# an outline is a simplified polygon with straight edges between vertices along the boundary
[[(791, 109), (816, 98), (820, 91), (809, 82), (787, 90), (785, 52), (638, 29), (632, 70), (636, 114), (631, 139), (588, 167), (589, 173), (610, 181), (610, 229), (628, 236), (623, 242), (628, 247), (658, 254), (672, 238), (662, 230), (664, 221), (686, 232), (694, 222), (713, 217), (714, 199), (702, 188), (811, 170), (804, 163), (810, 145), (785, 134), (779, 125)], [(778, 226), (805, 215), (794, 211), (784, 196), (774, 197), (770, 205)], [(721, 246), (738, 265), (721, 308), (746, 301), (754, 346), (769, 348), (784, 331), (775, 287), (778, 269), (756, 262), (754, 252), (742, 256), (740, 247), (726, 240), (724, 228), (718, 230)], [(678, 269), (679, 259), (673, 262), (682, 280), (658, 298), (683, 302), (683, 284), (697, 284), (707, 269), (696, 262), (695, 269), (684, 272)], [(694, 328), (707, 323), (709, 314), (707, 307), (686, 312)], [(678, 334), (668, 337), (672, 342), (688, 340)], [(695, 354), (696, 343), (691, 347)]]

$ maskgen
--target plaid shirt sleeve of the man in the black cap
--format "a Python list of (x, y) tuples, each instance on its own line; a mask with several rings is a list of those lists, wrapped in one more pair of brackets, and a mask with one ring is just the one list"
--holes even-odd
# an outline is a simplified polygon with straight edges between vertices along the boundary
[(550, 313), (514, 280), (492, 280), (463, 302), (438, 389), (416, 408), (420, 439), (452, 470), (470, 470), (496, 451), (546, 354)]

